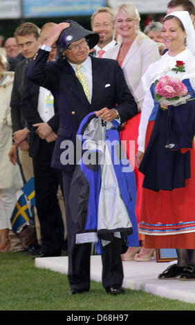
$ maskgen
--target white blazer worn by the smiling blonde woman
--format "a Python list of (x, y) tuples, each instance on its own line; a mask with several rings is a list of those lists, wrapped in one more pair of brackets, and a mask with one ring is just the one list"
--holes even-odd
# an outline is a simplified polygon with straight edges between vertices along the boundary
[[(113, 48), (104, 53), (103, 57), (117, 59), (121, 45), (122, 43), (113, 46)], [(138, 44), (137, 36), (122, 62), (124, 77), (138, 104), (139, 111), (142, 109), (142, 103), (145, 97), (145, 91), (141, 81), (142, 75), (147, 71), (149, 65), (158, 59), (160, 59), (160, 54), (156, 42), (151, 39), (142, 39)]]

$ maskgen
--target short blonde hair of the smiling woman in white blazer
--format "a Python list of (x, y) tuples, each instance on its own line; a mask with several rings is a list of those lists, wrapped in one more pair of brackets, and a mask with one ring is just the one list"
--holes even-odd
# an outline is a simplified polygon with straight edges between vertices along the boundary
[(136, 32), (138, 35), (138, 44), (140, 44), (140, 41), (142, 41), (142, 39), (149, 39), (149, 37), (140, 30), (140, 14), (136, 7), (131, 5), (131, 3), (121, 3), (120, 6), (118, 6), (118, 8), (116, 8), (113, 12), (114, 19), (116, 19), (120, 11), (122, 11), (123, 14), (126, 15), (127, 17), (135, 21), (138, 21), (138, 26), (136, 28)]

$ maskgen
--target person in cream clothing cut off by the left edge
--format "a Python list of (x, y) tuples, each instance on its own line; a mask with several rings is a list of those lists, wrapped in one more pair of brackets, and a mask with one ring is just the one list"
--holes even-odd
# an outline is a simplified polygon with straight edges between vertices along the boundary
[(16, 189), (22, 186), (19, 167), (12, 165), (8, 158), (8, 151), (12, 145), (10, 96), (14, 73), (6, 71), (7, 68), (7, 59), (0, 54), (0, 252), (8, 250), (10, 217), (17, 201)]

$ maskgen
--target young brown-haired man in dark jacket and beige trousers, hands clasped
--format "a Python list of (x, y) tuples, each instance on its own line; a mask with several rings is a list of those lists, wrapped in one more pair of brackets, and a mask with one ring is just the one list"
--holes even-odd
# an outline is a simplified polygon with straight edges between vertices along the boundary
[[(17, 164), (18, 149), (19, 162), (21, 163), (24, 178), (27, 182), (33, 176), (33, 168), (32, 158), (28, 155), (29, 131), (28, 124), (24, 115), (21, 113), (21, 96), (24, 92), (24, 80), (28, 64), (39, 48), (39, 28), (30, 22), (21, 24), (15, 30), (15, 38), (17, 39), (17, 45), (21, 50), (21, 54), (24, 55), (24, 59), (17, 63), (15, 67), (15, 78), (10, 100), (13, 142), (8, 156), (12, 164)], [(38, 241), (40, 236), (39, 223), (37, 221), (37, 210), (35, 210), (35, 243), (28, 248), (29, 252), (32, 254), (37, 254), (37, 252), (39, 252)]]

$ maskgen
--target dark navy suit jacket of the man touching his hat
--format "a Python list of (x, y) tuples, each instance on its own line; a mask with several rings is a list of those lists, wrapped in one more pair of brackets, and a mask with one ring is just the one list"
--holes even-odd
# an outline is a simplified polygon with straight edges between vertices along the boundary
[(72, 166), (60, 162), (64, 151), (60, 145), (63, 140), (75, 142), (77, 129), (85, 115), (104, 107), (115, 108), (120, 113), (121, 122), (125, 122), (138, 113), (138, 108), (117, 61), (91, 57), (93, 93), (90, 104), (67, 59), (47, 63), (48, 55), (47, 51), (39, 49), (30, 63), (27, 78), (53, 93), (60, 121), (52, 167), (71, 170)]

